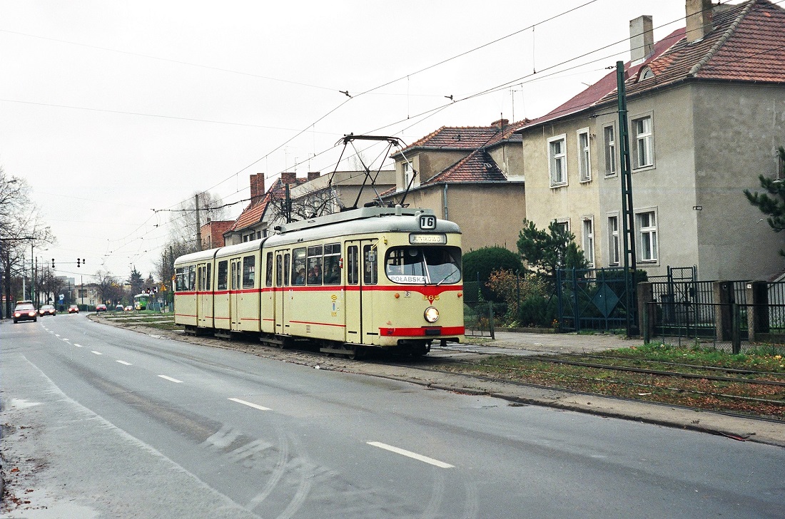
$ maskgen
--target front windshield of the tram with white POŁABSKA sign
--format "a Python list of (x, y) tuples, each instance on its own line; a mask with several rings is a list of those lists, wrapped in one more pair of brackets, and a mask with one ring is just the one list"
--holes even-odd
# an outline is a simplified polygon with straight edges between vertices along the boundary
[(385, 273), (393, 283), (452, 285), (461, 281), (461, 249), (446, 246), (392, 247)]

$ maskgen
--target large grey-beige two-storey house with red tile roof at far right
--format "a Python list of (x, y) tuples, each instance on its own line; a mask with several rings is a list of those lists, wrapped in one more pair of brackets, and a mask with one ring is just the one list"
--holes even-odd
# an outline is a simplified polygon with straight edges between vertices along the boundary
[[(637, 266), (701, 279), (780, 272), (781, 238), (745, 188), (777, 176), (785, 144), (785, 10), (769, 0), (686, 1), (659, 42), (630, 22), (624, 64)], [(518, 130), (526, 215), (567, 226), (594, 267), (623, 264), (616, 72)], [(781, 174), (781, 173), (779, 173)]]

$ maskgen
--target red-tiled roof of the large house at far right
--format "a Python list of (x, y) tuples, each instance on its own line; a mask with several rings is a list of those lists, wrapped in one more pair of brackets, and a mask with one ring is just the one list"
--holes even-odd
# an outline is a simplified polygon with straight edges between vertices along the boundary
[[(624, 66), (626, 94), (635, 96), (688, 79), (785, 82), (785, 10), (769, 0), (749, 0), (714, 8), (713, 29), (687, 42), (685, 28), (655, 43), (652, 56)], [(650, 69), (653, 77), (640, 79)], [(532, 121), (537, 125), (616, 100), (616, 72)]]

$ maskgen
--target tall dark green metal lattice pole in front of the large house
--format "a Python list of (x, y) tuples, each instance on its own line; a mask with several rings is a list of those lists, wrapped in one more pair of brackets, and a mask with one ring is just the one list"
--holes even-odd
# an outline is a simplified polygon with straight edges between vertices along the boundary
[(624, 285), (626, 294), (627, 336), (638, 333), (637, 287), (635, 271), (635, 212), (633, 210), (633, 178), (630, 168), (630, 130), (627, 127), (627, 100), (624, 86), (624, 62), (616, 62), (616, 90), (619, 94), (619, 158), (622, 179), (622, 230), (624, 234)]

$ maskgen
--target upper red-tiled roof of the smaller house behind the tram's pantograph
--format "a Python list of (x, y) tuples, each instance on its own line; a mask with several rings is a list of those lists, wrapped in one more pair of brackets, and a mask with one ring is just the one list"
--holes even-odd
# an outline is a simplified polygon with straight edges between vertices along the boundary
[(442, 126), (434, 132), (411, 143), (403, 150), (391, 155), (396, 158), (401, 153), (413, 150), (462, 150), (474, 151), (480, 147), (494, 146), (502, 141), (520, 141), (520, 136), (514, 133), (528, 120), (513, 122), (502, 128), (498, 126)]

